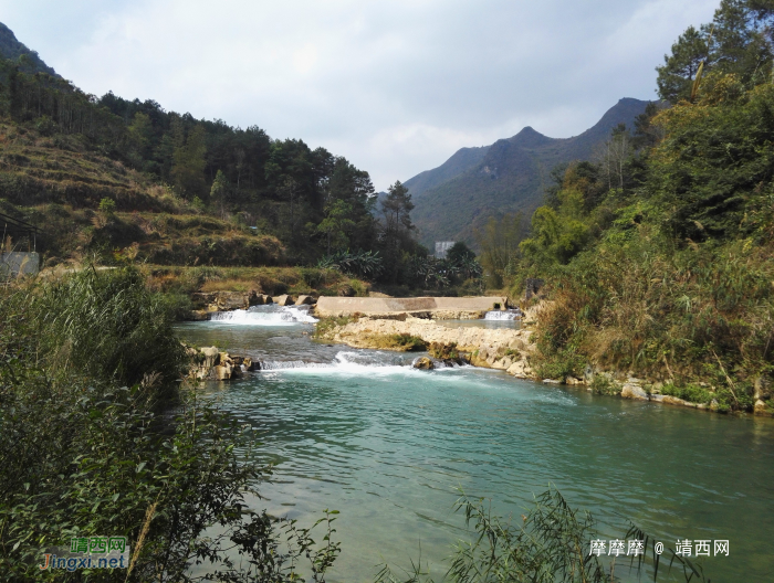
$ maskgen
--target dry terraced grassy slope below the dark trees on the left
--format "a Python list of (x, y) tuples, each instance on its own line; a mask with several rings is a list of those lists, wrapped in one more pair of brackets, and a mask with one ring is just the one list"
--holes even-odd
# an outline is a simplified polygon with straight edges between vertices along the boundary
[[(0, 146), (0, 212), (41, 229), (38, 250), (49, 265), (125, 247), (166, 265), (282, 262), (275, 237), (198, 212), (76, 136), (46, 137), (7, 121)], [(98, 211), (104, 198), (115, 201), (115, 213)]]

